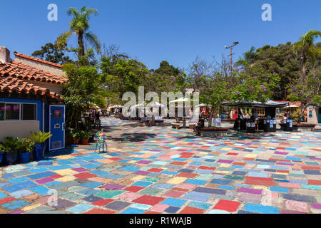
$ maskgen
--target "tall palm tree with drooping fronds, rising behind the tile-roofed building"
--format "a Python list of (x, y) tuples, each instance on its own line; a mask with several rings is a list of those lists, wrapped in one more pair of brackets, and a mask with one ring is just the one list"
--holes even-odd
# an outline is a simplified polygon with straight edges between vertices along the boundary
[(68, 9), (67, 14), (69, 16), (73, 16), (73, 19), (69, 24), (69, 31), (61, 34), (61, 36), (57, 38), (56, 43), (58, 48), (64, 48), (71, 34), (75, 33), (78, 38), (78, 58), (85, 56), (85, 44), (83, 42), (84, 38), (86, 38), (86, 41), (91, 43), (91, 45), (99, 53), (101, 49), (101, 43), (94, 33), (88, 31), (89, 17), (91, 16), (91, 14), (94, 14), (96, 16), (98, 14), (98, 11), (96, 9), (88, 9), (86, 8), (86, 6), (83, 6), (83, 8), (81, 8), (81, 11), (79, 12), (77, 9), (71, 7)]

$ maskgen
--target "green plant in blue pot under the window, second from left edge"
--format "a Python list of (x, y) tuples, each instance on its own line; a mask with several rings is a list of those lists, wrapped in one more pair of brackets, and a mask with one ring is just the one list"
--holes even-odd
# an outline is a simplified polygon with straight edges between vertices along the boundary
[(4, 138), (4, 155), (6, 165), (14, 165), (18, 161), (18, 150), (22, 147), (22, 139), (17, 137)]

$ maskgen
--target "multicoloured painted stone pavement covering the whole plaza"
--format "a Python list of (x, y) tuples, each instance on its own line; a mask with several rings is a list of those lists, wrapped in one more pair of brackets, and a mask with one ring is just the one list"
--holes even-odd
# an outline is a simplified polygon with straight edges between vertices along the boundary
[(213, 139), (103, 125), (108, 154), (80, 146), (1, 167), (0, 213), (321, 213), (320, 132)]

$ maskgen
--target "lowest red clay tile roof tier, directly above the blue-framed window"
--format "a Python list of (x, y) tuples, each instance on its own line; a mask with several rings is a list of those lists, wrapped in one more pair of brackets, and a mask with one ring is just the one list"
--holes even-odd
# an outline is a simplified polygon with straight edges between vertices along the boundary
[(7, 93), (19, 93), (19, 94), (32, 94), (32, 95), (43, 95), (55, 100), (62, 100), (61, 96), (57, 93), (51, 92), (48, 88), (35, 86), (32, 83), (22, 81), (14, 77), (0, 76), (0, 91)]

